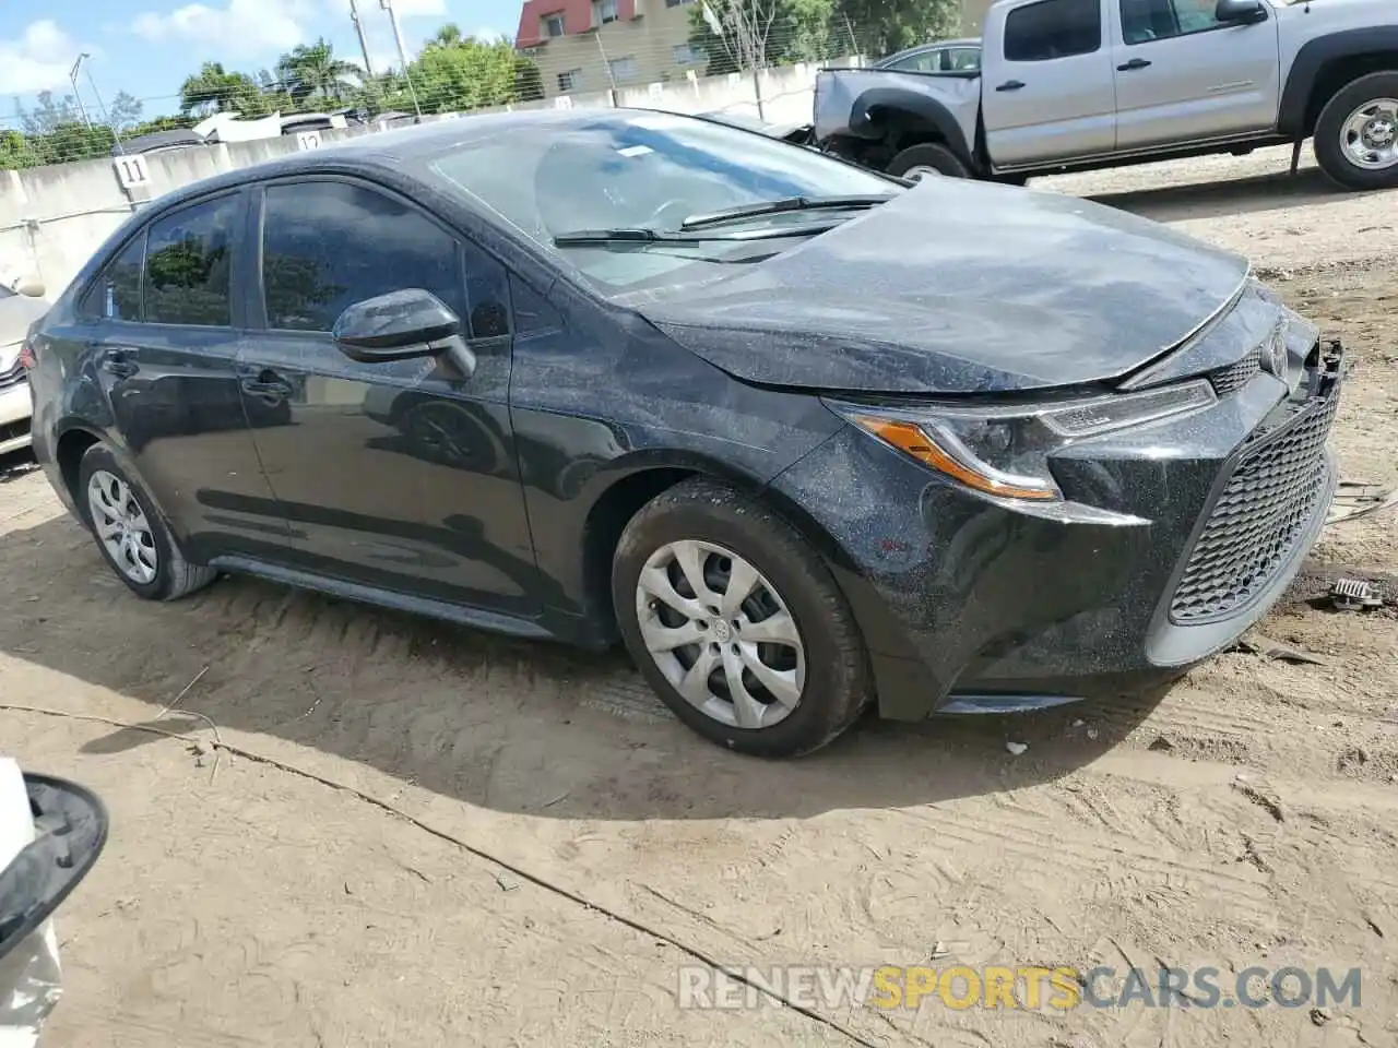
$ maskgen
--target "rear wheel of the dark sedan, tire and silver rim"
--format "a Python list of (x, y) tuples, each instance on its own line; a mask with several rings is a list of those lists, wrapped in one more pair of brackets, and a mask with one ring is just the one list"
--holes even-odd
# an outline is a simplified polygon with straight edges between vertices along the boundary
[(144, 485), (106, 444), (84, 453), (75, 496), (106, 563), (138, 597), (173, 601), (218, 577), (185, 559)]

